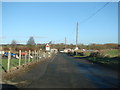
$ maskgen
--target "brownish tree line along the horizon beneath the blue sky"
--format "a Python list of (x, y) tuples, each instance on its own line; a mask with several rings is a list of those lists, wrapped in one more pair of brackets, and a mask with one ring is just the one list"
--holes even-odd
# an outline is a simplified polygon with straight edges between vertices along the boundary
[[(58, 50), (63, 50), (66, 48), (71, 48), (74, 49), (76, 45), (74, 44), (64, 44), (64, 43), (59, 43), (59, 44), (53, 44), (52, 42), (49, 43), (51, 48), (56, 48)], [(28, 50), (45, 50), (45, 45), (46, 44), (36, 44), (35, 40), (33, 37), (30, 37), (29, 40), (27, 41), (26, 45), (24, 44), (17, 44), (15, 40), (12, 40), (11, 44), (9, 45), (3, 45), (3, 50), (13, 50), (13, 51), (28, 51)], [(88, 50), (103, 50), (103, 49), (119, 49), (120, 44), (114, 44), (114, 43), (107, 43), (107, 44), (89, 44), (89, 45), (84, 45), (84, 44), (78, 44), (79, 49), (88, 49)]]

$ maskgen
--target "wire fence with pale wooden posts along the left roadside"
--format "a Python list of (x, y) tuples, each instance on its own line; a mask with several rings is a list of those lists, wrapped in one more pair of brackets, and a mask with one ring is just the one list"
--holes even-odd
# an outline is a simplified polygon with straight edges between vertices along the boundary
[(13, 54), (10, 51), (6, 52), (5, 56), (1, 56), (0, 59), (0, 71), (11, 72), (21, 67), (27, 66), (31, 63), (37, 63), (50, 58), (53, 55), (52, 52), (43, 51), (25, 51), (19, 50), (17, 54)]

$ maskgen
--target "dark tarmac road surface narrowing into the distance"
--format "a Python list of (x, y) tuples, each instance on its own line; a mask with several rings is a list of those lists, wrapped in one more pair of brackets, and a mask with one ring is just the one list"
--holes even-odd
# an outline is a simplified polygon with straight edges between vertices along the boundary
[(118, 72), (58, 53), (11, 80), (19, 88), (118, 88)]

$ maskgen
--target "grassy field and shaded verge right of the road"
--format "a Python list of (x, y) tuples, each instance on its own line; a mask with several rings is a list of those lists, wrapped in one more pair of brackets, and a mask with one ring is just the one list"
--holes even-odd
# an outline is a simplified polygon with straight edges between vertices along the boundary
[(102, 65), (108, 65), (112, 68), (119, 68), (120, 59), (119, 59), (119, 51), (116, 49), (113, 50), (102, 50), (100, 51), (100, 56), (92, 57), (90, 56), (92, 52), (84, 52), (84, 55), (74, 55), (73, 53), (70, 54), (75, 58), (85, 58), (93, 63), (99, 63)]

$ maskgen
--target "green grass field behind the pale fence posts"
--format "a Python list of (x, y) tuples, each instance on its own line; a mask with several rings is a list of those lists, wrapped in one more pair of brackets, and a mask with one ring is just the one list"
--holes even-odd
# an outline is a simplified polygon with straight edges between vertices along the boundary
[[(31, 56), (32, 55), (32, 56)], [(24, 66), (30, 62), (36, 62), (38, 60), (42, 60), (43, 58), (48, 58), (52, 55), (52, 53), (45, 53), (45, 52), (37, 52), (33, 54), (32, 52), (29, 55), (21, 55), (20, 66)], [(0, 56), (0, 71), (7, 72), (8, 70), (14, 70), (19, 68), (19, 59), (11, 56), (10, 64), (8, 65), (8, 57), (7, 56)], [(8, 67), (9, 66), (9, 67)], [(8, 69), (9, 68), (9, 69)]]

